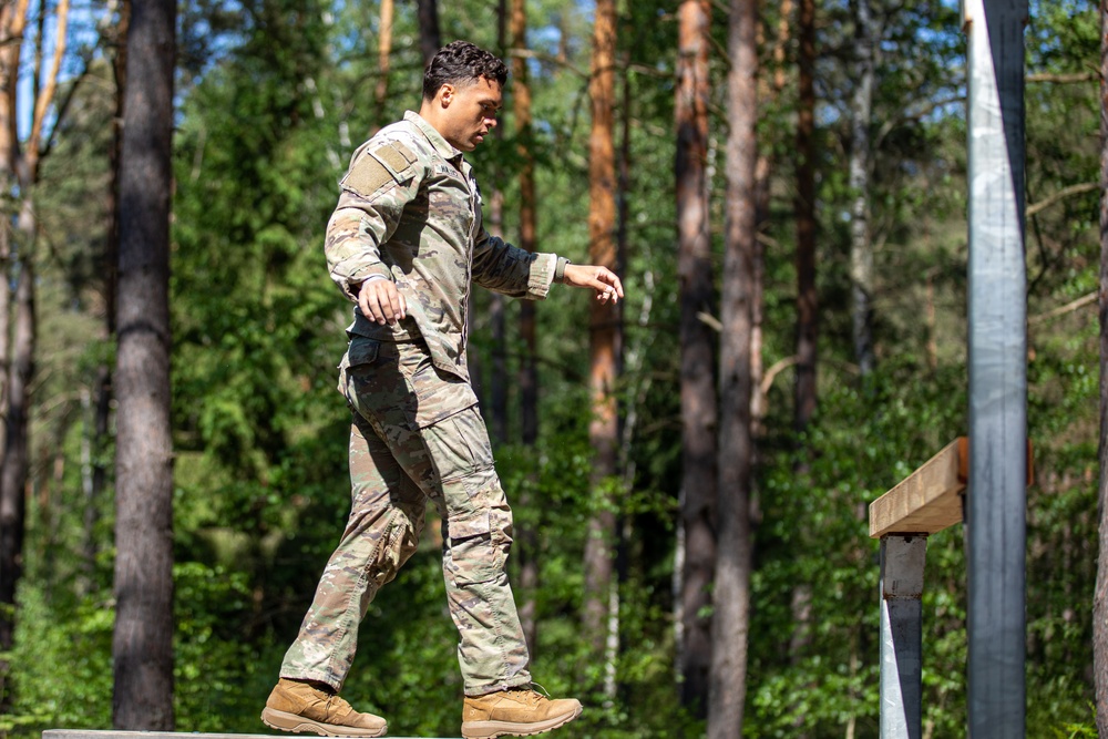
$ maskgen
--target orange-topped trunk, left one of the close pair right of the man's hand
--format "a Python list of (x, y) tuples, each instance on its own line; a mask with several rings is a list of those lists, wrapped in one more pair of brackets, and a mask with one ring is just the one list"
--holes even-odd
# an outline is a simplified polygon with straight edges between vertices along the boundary
[(681, 702), (707, 715), (710, 623), (704, 616), (716, 560), (716, 384), (711, 329), (711, 245), (708, 228), (708, 24), (707, 0), (678, 8), (677, 59), (677, 273), (680, 280), (681, 525), (685, 528), (680, 665)]

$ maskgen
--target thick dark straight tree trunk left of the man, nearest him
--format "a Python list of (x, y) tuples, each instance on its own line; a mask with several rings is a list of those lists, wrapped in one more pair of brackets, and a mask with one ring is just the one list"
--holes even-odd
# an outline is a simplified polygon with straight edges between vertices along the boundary
[(170, 193), (175, 0), (136, 1), (127, 39), (116, 360), (117, 729), (172, 730)]

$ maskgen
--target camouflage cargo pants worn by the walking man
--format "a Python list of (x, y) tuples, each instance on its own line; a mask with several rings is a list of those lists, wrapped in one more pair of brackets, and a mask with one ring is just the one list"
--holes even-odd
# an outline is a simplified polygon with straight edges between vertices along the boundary
[(422, 341), (355, 337), (340, 368), (353, 410), (351, 509), (281, 677), (341, 689), (358, 625), (416, 552), (427, 501), (442, 517), (442, 571), (465, 695), (531, 681), (505, 563), (512, 511), (470, 384), (431, 365)]

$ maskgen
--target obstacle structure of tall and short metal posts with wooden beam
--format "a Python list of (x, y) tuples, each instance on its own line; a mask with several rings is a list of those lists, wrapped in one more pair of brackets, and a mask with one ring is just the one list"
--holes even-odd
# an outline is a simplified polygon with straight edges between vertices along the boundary
[(1026, 736), (1027, 0), (962, 0), (962, 17), (968, 82), (970, 442), (952, 443), (870, 509), (870, 534), (881, 538), (882, 739), (921, 737), (926, 536), (958, 521), (965, 523), (967, 560), (967, 732), (973, 739)]

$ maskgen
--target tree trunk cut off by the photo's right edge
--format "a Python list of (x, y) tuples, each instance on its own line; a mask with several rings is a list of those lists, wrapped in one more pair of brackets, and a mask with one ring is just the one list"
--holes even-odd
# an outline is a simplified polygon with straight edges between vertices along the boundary
[(1099, 554), (1092, 594), (1097, 732), (1108, 737), (1108, 0), (1100, 0), (1100, 480)]

